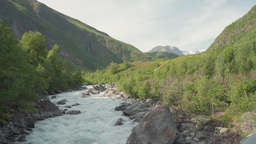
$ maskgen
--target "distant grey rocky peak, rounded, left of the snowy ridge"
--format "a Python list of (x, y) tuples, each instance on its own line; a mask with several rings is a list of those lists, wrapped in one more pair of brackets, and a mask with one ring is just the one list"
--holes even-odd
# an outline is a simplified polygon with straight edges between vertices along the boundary
[(154, 47), (152, 50), (150, 50), (149, 52), (170, 52), (170, 53), (174, 53), (178, 56), (183, 56), (184, 53), (179, 50), (177, 47), (175, 46), (170, 46), (170, 45), (166, 45), (166, 46), (156, 46)]

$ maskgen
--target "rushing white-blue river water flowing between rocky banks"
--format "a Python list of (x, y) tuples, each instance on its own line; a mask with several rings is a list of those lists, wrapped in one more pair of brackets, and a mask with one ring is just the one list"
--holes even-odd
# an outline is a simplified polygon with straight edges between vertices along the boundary
[[(66, 105), (79, 103), (80, 105), (69, 110), (80, 110), (81, 114), (63, 115), (36, 122), (32, 133), (26, 136), (27, 141), (22, 143), (126, 143), (137, 123), (121, 116), (121, 111), (114, 111), (123, 101), (106, 98), (102, 94), (81, 98), (85, 91), (88, 90), (61, 93), (57, 94), (56, 99), (50, 99), (55, 104), (62, 99), (67, 100)], [(66, 105), (60, 105), (60, 109), (65, 109)], [(120, 117), (124, 119), (124, 124), (114, 127)]]

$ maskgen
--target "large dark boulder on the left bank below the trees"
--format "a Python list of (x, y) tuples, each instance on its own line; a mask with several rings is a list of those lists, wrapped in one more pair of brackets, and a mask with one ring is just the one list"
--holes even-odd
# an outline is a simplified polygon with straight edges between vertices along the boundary
[(51, 112), (54, 116), (62, 116), (62, 112), (60, 111), (59, 107), (57, 107), (54, 103), (51, 103), (49, 99), (40, 101), (38, 105), (40, 105), (43, 111)]

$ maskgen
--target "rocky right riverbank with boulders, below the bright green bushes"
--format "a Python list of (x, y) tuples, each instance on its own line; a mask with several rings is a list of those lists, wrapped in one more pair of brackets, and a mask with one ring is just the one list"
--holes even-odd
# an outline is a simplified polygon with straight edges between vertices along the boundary
[[(106, 95), (110, 94), (111, 96), (113, 93), (119, 94), (111, 89), (106, 91)], [(122, 94), (118, 98), (124, 98), (126, 102), (121, 103), (115, 110), (123, 111), (124, 116), (133, 119), (134, 122), (139, 122), (133, 128), (127, 144), (238, 144), (243, 139), (238, 129), (225, 128), (223, 123), (217, 119), (194, 117), (184, 121), (184, 118), (172, 116), (170, 110), (166, 106), (158, 105), (160, 102), (156, 100), (129, 99), (129, 97)], [(255, 116), (256, 113), (254, 112), (242, 115), (243, 123), (238, 126), (240, 130), (247, 133), (255, 132), (255, 119), (251, 120)], [(173, 117), (177, 119), (173, 119)], [(118, 119), (117, 125), (120, 124), (120, 119)]]

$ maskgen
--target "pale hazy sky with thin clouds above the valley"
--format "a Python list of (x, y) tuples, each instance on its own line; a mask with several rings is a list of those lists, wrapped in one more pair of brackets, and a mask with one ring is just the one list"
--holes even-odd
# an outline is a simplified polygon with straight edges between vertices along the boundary
[(146, 52), (157, 45), (207, 49), (256, 0), (39, 0)]

